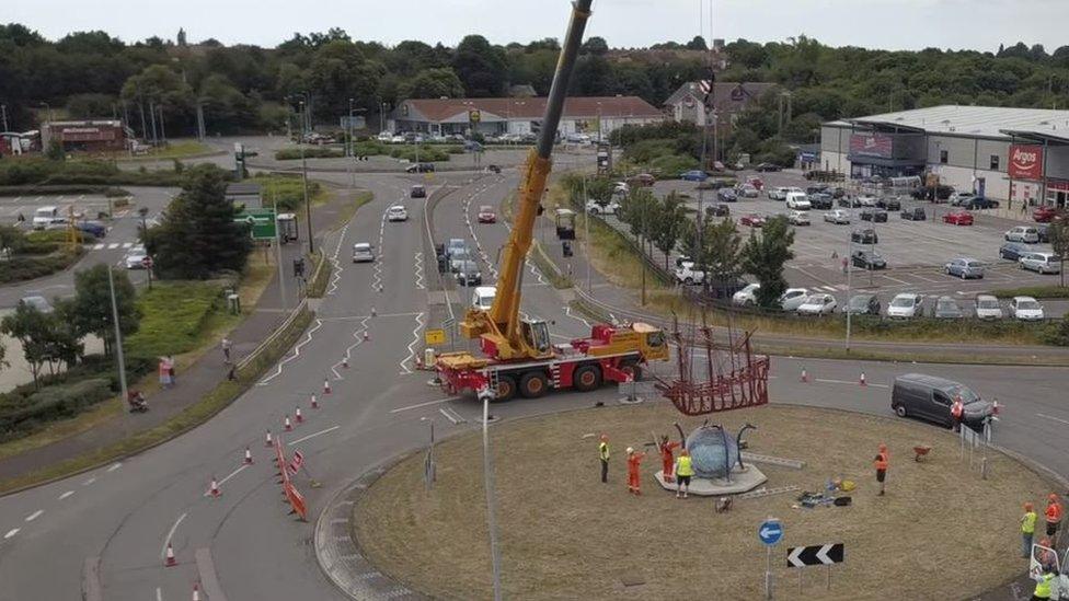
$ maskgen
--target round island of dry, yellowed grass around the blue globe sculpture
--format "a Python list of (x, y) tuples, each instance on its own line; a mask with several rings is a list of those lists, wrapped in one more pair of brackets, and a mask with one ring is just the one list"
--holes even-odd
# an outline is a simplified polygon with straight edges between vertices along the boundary
[[(1048, 485), (1021, 463), (990, 453), (988, 479), (959, 461), (958, 439), (913, 420), (771, 405), (714, 415), (732, 434), (750, 423), (754, 453), (797, 459), (794, 470), (761, 464), (767, 487), (820, 492), (852, 479), (847, 507), (798, 507), (798, 493), (739, 499), (716, 513), (710, 498), (675, 498), (654, 479), (660, 461), (651, 432), (701, 425), (667, 403), (604, 407), (494, 425), (497, 521), (506, 599), (760, 599), (758, 524), (773, 516), (784, 535), (772, 553), (777, 598), (800, 599), (792, 546), (844, 543), (832, 569), (805, 568), (803, 596), (819, 599), (964, 599), (1027, 567), (1020, 554), (1021, 504)], [(599, 479), (597, 439), (609, 436), (609, 483)], [(890, 451), (887, 495), (872, 467)], [(912, 448), (932, 447), (923, 462)], [(642, 496), (628, 493), (624, 449), (644, 449)], [(482, 438), (436, 446), (438, 482), (423, 483), (424, 453), (386, 472), (354, 507), (354, 535), (375, 566), (439, 599), (492, 598)], [(629, 585), (625, 585), (628, 581)], [(639, 583), (641, 582), (641, 583)], [(814, 597), (815, 596), (815, 597)]]

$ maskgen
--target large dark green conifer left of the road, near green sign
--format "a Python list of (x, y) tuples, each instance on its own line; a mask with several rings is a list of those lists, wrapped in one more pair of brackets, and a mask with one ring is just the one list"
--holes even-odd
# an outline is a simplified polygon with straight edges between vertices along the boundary
[(206, 279), (244, 269), (252, 240), (248, 227), (234, 222), (238, 209), (226, 198), (227, 177), (214, 165), (189, 169), (163, 221), (142, 232), (161, 278)]

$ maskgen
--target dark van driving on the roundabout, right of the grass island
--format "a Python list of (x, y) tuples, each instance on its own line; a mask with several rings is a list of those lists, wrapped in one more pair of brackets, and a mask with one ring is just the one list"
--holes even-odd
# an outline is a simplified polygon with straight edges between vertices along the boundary
[(935, 375), (907, 373), (895, 378), (890, 408), (898, 417), (920, 417), (951, 427), (954, 425), (951, 405), (956, 397), (965, 405), (963, 423), (974, 430), (982, 430), (984, 423), (993, 413), (991, 404), (965, 385)]

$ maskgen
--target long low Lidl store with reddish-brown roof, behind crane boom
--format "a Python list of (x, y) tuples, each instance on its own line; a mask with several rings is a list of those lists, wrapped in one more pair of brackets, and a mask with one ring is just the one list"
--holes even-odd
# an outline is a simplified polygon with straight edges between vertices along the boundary
[[(406, 100), (390, 115), (390, 129), (449, 136), (467, 134), (474, 126), (486, 136), (524, 136), (538, 132), (544, 113), (544, 97)], [(559, 131), (562, 137), (585, 134), (597, 139), (624, 125), (664, 118), (664, 113), (637, 96), (570, 97)]]

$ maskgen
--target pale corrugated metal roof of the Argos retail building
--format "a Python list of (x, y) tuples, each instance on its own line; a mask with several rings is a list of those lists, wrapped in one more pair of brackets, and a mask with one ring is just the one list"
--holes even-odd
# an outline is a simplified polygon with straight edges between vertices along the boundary
[(1061, 132), (1069, 135), (1069, 111), (1048, 108), (1010, 108), (1003, 106), (942, 105), (913, 111), (884, 113), (855, 119), (840, 119), (826, 125), (850, 127), (851, 124), (874, 124), (922, 129), (930, 134), (956, 134), (1005, 138), (1004, 129)]

